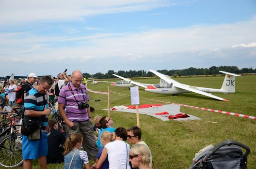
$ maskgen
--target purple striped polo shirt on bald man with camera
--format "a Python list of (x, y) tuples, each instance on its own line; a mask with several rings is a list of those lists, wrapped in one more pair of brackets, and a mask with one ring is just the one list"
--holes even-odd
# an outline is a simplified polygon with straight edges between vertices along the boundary
[[(74, 95), (69, 90), (68, 85), (66, 85), (60, 90), (58, 103), (66, 106), (66, 115), (70, 121), (86, 121), (89, 119), (87, 109), (78, 109), (78, 103), (81, 103), (84, 101), (84, 99), (89, 100), (86, 88), (84, 85), (80, 85), (77, 90), (71, 82), (69, 84), (74, 92)], [(81, 90), (83, 91), (83, 94)], [(76, 102), (74, 96), (78, 100), (78, 103)]]

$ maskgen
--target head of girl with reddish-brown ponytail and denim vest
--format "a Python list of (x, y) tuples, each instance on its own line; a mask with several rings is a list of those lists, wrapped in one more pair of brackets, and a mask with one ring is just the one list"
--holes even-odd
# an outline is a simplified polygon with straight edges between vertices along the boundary
[[(71, 152), (77, 144), (82, 144), (83, 136), (80, 133), (71, 134), (64, 144), (64, 155)], [(80, 145), (79, 145), (80, 146)]]

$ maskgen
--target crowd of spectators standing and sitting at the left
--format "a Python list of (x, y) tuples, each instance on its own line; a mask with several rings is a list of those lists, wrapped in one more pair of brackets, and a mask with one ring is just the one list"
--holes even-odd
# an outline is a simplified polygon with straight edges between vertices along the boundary
[[(47, 169), (49, 163), (64, 163), (64, 169), (82, 169), (83, 166), (86, 169), (154, 168), (150, 149), (142, 140), (139, 127), (115, 128), (113, 120), (106, 116), (96, 115), (92, 120), (86, 81), (80, 70), (74, 70), (70, 77), (65, 72), (57, 77), (39, 78), (30, 73), (20, 83), (10, 80), (0, 85), (0, 111), (6, 112), (12, 112), (11, 107), (16, 106), (16, 90), (22, 87), (24, 169), (32, 169), (32, 160), (36, 159), (41, 169)], [(55, 99), (65, 122), (64, 131), (58, 130), (56, 119), (48, 119), (48, 103)], [(90, 166), (89, 160), (95, 164)]]

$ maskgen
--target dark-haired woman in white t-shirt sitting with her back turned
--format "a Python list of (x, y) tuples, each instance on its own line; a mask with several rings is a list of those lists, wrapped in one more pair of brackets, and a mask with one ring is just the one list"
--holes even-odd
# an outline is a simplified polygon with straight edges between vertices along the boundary
[(113, 133), (114, 141), (107, 143), (100, 155), (94, 169), (100, 169), (106, 158), (109, 160), (109, 169), (130, 169), (128, 155), (130, 146), (127, 140), (127, 130), (124, 127), (118, 127)]

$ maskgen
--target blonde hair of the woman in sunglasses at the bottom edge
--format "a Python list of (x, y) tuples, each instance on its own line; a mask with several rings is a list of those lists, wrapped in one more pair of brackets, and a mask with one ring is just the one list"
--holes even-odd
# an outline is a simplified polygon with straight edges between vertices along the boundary
[(149, 148), (144, 145), (144, 144), (134, 144), (131, 149), (130, 152), (133, 153), (133, 155), (141, 155), (142, 157), (142, 164), (144, 164), (144, 166), (148, 166), (150, 163), (150, 150)]

